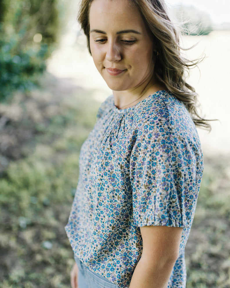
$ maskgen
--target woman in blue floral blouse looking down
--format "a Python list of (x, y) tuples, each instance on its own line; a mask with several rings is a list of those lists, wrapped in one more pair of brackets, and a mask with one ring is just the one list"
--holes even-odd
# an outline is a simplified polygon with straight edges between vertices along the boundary
[(78, 19), (113, 95), (80, 153), (71, 285), (185, 287), (203, 171), (195, 125), (209, 128), (184, 80), (195, 64), (180, 55), (163, 0), (83, 0)]

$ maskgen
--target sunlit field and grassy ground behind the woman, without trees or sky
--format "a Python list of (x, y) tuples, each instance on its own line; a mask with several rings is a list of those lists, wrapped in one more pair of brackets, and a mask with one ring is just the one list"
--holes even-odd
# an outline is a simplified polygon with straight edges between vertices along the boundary
[[(75, 33), (75, 34), (74, 34)], [(0, 287), (67, 288), (74, 263), (64, 231), (78, 177), (79, 149), (111, 91), (82, 36), (72, 30), (48, 61), (42, 87), (0, 104)], [(199, 130), (204, 176), (186, 248), (187, 288), (230, 287), (230, 31), (184, 37), (186, 53), (206, 58), (189, 83), (211, 133)], [(1, 123), (0, 123), (1, 124)], [(3, 147), (3, 148), (2, 148)]]

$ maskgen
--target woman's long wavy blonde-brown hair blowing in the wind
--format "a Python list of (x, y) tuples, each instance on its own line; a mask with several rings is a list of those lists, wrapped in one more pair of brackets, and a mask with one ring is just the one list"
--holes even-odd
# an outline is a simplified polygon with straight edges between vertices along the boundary
[[(166, 88), (182, 101), (189, 111), (196, 126), (211, 130), (209, 120), (203, 119), (198, 113), (198, 94), (185, 81), (185, 74), (191, 67), (197, 66), (200, 60), (191, 61), (182, 56), (179, 33), (169, 19), (164, 0), (129, 0), (142, 14), (144, 21), (153, 33), (157, 47), (155, 56), (155, 76), (164, 83)], [(93, 0), (82, 0), (78, 13), (78, 21), (87, 37), (90, 52), (89, 10)], [(90, 52), (91, 54), (91, 52)]]

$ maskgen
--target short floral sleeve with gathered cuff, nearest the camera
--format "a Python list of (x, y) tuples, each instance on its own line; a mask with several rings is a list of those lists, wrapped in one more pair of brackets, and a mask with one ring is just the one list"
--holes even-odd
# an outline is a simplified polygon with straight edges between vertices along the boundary
[(189, 227), (198, 191), (196, 157), (169, 115), (146, 120), (130, 158), (136, 226)]

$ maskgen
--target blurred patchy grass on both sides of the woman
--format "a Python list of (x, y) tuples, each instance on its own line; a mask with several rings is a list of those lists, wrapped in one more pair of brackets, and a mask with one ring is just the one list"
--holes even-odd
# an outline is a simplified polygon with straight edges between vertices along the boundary
[[(74, 260), (64, 226), (77, 186), (80, 147), (99, 103), (93, 91), (64, 80), (46, 75), (42, 83), (43, 89), (0, 105), (7, 120), (1, 134), (15, 137), (14, 142), (5, 137), (4, 145), (0, 140), (0, 288), (70, 287)], [(17, 117), (8, 113), (15, 107), (21, 111)], [(227, 288), (230, 167), (220, 157), (206, 157), (205, 164), (186, 247), (187, 288)]]

